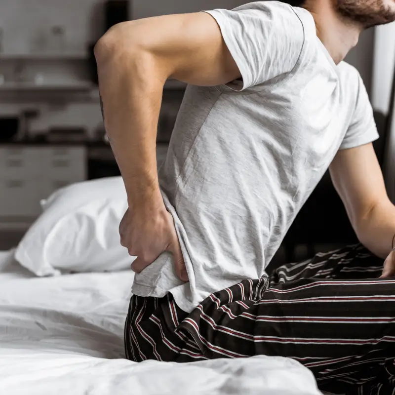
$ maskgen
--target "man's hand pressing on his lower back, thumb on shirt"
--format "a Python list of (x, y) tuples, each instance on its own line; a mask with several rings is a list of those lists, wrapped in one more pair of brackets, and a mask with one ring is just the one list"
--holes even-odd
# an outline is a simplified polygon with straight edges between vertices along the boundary
[(129, 254), (137, 256), (131, 268), (140, 273), (151, 265), (158, 256), (169, 251), (173, 254), (177, 276), (188, 281), (180, 243), (171, 214), (163, 207), (155, 208), (140, 205), (127, 209), (119, 224), (120, 243)]

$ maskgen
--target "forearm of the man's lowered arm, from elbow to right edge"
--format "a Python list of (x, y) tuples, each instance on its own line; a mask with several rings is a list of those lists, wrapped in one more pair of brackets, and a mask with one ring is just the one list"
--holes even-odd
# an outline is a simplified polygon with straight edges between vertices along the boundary
[(395, 234), (395, 206), (390, 200), (376, 204), (356, 227), (359, 241), (377, 256), (385, 259)]

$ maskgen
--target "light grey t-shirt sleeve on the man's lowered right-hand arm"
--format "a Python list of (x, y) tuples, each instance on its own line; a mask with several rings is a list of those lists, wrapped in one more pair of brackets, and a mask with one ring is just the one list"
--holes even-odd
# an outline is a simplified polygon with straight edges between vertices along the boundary
[(357, 97), (354, 107), (354, 115), (346, 135), (340, 146), (341, 150), (358, 147), (371, 143), (379, 138), (376, 123), (373, 117), (373, 109), (366, 92), (365, 85), (358, 73)]

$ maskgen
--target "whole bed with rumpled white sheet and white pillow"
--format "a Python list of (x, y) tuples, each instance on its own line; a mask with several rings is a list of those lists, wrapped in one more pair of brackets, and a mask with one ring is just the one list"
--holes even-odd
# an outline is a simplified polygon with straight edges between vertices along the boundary
[(64, 187), (41, 206), (17, 247), (0, 252), (0, 395), (321, 394), (288, 358), (126, 360), (122, 179)]

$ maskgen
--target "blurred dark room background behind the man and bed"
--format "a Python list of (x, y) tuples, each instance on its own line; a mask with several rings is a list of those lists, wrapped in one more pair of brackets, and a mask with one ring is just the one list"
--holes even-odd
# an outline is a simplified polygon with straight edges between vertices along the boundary
[[(71, 183), (119, 175), (104, 139), (95, 42), (118, 22), (234, 8), (240, 0), (0, 1), (0, 249), (18, 243), (40, 200)], [(395, 197), (395, 25), (363, 33), (346, 58), (364, 80), (380, 133), (376, 153)], [(158, 124), (165, 158), (185, 85), (168, 81)], [(392, 181), (394, 180), (394, 181)], [(288, 232), (274, 264), (355, 242), (325, 174)]]

